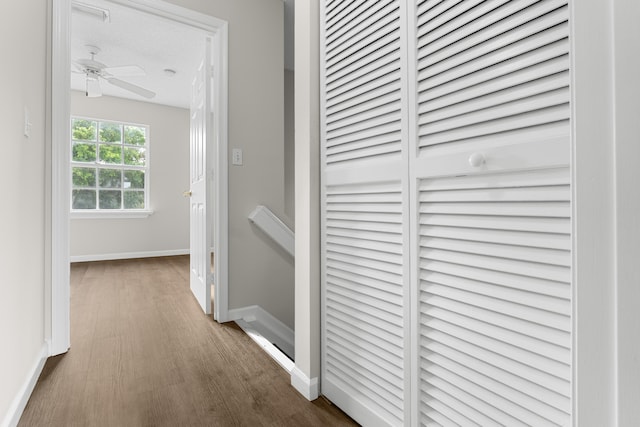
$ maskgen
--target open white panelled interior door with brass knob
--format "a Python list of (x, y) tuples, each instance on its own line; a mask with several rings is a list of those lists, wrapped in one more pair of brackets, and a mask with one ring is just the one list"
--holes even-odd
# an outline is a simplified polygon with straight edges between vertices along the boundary
[(211, 313), (211, 180), (213, 132), (211, 114), (211, 42), (191, 87), (190, 135), (190, 286), (202, 310)]

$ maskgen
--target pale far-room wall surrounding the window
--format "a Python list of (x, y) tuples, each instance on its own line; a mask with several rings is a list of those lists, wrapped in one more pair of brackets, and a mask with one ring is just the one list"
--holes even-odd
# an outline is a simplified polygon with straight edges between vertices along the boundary
[(188, 251), (189, 111), (148, 102), (71, 93), (71, 115), (149, 125), (150, 197), (147, 218), (72, 219), (71, 257)]

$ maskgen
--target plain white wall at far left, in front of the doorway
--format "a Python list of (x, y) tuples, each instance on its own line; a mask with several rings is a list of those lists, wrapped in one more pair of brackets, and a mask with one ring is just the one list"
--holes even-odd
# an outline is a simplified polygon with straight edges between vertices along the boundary
[[(47, 2), (0, 3), (0, 425), (44, 340)], [(24, 108), (33, 123), (23, 136)]]

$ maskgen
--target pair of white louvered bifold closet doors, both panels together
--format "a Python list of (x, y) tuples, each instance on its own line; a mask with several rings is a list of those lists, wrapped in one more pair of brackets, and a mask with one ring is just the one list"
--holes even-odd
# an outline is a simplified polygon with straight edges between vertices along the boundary
[(567, 1), (323, 3), (322, 392), (571, 423)]

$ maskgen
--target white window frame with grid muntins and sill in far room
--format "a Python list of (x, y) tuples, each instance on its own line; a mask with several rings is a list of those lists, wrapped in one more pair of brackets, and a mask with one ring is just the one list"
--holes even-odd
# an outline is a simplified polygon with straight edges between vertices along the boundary
[[(114, 164), (114, 165), (110, 165), (110, 164), (104, 164), (101, 163), (98, 159), (98, 146), (100, 144), (99, 141), (99, 125), (97, 125), (96, 127), (96, 140), (95, 141), (89, 141), (91, 143), (95, 143), (96, 144), (96, 160), (94, 162), (76, 162), (73, 161), (73, 144), (75, 142), (87, 142), (87, 141), (82, 141), (82, 140), (75, 140), (73, 138), (73, 121), (74, 120), (87, 120), (87, 121), (92, 121), (92, 122), (96, 122), (98, 123), (109, 123), (109, 124), (118, 124), (120, 126), (122, 126), (122, 129), (124, 129), (124, 126), (136, 126), (136, 127), (142, 127), (146, 129), (146, 140), (145, 140), (145, 166), (132, 166), (132, 165), (125, 165), (125, 164)], [(147, 124), (143, 124), (143, 123), (131, 123), (131, 122), (124, 122), (121, 120), (111, 120), (111, 119), (105, 119), (105, 118), (95, 118), (95, 117), (86, 117), (86, 116), (79, 116), (79, 115), (72, 115), (71, 116), (71, 120), (69, 121), (69, 142), (70, 142), (70, 158), (69, 158), (69, 183), (70, 183), (70, 188), (71, 191), (73, 192), (74, 187), (73, 187), (73, 168), (74, 167), (89, 167), (89, 168), (96, 168), (96, 171), (100, 170), (100, 169), (112, 169), (112, 170), (120, 170), (120, 171), (125, 171), (125, 170), (141, 170), (144, 171), (144, 208), (143, 209), (124, 209), (124, 207), (121, 207), (120, 209), (100, 209), (98, 207), (98, 200), (96, 200), (96, 208), (94, 209), (73, 209), (73, 199), (70, 198), (69, 200), (69, 209), (70, 209), (70, 217), (72, 219), (108, 219), (108, 218), (122, 218), (122, 219), (133, 219), (133, 218), (146, 218), (149, 215), (151, 215), (153, 213), (153, 210), (150, 208), (149, 203), (150, 203), (150, 179), (149, 179), (149, 175), (151, 173), (151, 128), (149, 125)], [(122, 138), (124, 138), (124, 132), (122, 134)], [(126, 147), (127, 145), (125, 145), (124, 140), (122, 141), (122, 146)], [(135, 147), (135, 148), (141, 148), (141, 146), (131, 146), (131, 147)], [(99, 191), (99, 187), (98, 187), (98, 174), (96, 173), (96, 183), (95, 183), (95, 190), (96, 190), (96, 197), (98, 197), (98, 191)], [(124, 188), (121, 186), (120, 187), (120, 191), (124, 191)], [(123, 200), (124, 203), (124, 200)]]

